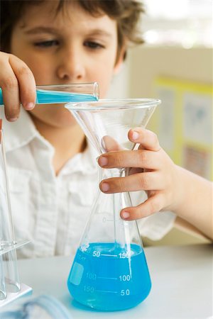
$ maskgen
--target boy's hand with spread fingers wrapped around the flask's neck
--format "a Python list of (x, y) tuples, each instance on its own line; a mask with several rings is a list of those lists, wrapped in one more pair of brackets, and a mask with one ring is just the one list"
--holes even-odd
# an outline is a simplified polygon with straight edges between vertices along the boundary
[(99, 165), (104, 168), (130, 167), (129, 176), (105, 179), (100, 183), (100, 189), (108, 194), (146, 191), (148, 199), (144, 203), (121, 211), (121, 217), (126, 220), (175, 207), (175, 201), (178, 201), (175, 189), (181, 184), (176, 177), (177, 168), (160, 147), (155, 133), (135, 128), (129, 130), (129, 140), (140, 144), (138, 150), (107, 152), (98, 159)]

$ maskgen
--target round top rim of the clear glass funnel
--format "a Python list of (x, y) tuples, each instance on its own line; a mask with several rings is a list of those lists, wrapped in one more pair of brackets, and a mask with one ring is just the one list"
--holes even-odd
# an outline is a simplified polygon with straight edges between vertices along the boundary
[(133, 109), (158, 106), (160, 99), (99, 99), (99, 101), (70, 102), (65, 108), (71, 111), (99, 111), (111, 109)]

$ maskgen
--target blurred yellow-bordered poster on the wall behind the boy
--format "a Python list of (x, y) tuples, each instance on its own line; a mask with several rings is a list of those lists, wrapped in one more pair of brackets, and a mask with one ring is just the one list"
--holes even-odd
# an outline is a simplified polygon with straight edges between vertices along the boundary
[(212, 86), (158, 77), (155, 95), (162, 104), (153, 129), (176, 164), (213, 179)]

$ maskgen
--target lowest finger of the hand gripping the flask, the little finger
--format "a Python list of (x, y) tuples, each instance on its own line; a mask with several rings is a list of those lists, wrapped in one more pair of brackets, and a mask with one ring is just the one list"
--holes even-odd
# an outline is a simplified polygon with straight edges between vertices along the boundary
[(163, 209), (163, 203), (163, 194), (159, 192), (136, 207), (126, 207), (122, 209), (120, 215), (121, 218), (125, 220), (137, 220), (161, 211)]

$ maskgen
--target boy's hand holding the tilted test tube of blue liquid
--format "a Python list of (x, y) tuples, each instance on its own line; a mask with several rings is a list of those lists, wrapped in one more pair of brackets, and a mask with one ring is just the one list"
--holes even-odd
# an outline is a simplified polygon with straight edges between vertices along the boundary
[(35, 79), (28, 66), (15, 55), (0, 52), (0, 87), (3, 92), (5, 116), (16, 121), (20, 103), (26, 110), (35, 106)]

